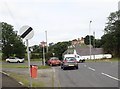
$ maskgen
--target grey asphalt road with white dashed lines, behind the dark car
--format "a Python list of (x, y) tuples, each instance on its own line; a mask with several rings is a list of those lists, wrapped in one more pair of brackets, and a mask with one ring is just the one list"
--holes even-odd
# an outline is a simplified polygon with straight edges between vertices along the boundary
[[(117, 62), (80, 63), (78, 70), (54, 67), (58, 87), (118, 87)], [(115, 88), (116, 89), (116, 88)]]

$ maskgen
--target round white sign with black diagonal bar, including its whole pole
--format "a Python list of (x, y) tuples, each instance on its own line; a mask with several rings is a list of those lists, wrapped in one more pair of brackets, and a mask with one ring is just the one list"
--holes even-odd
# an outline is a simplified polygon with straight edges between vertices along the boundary
[(20, 37), (26, 40), (27, 43), (27, 54), (28, 54), (28, 68), (30, 73), (30, 87), (32, 87), (32, 80), (31, 80), (31, 71), (30, 71), (30, 52), (29, 52), (29, 42), (28, 40), (31, 39), (34, 35), (34, 31), (31, 27), (25, 25), (20, 28)]

